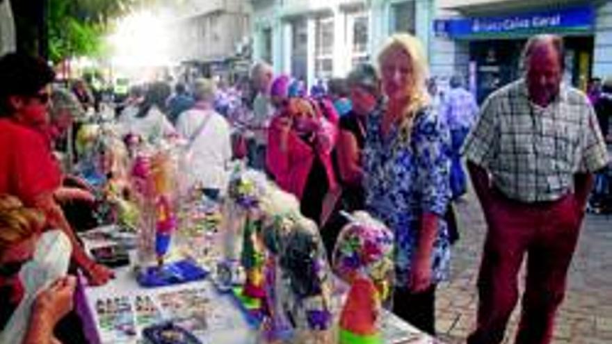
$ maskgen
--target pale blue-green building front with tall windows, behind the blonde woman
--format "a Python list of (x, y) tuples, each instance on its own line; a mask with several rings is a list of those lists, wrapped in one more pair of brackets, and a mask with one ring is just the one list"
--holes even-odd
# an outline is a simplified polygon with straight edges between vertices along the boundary
[(430, 47), (433, 0), (252, 0), (253, 58), (312, 85), (346, 76), (394, 32)]

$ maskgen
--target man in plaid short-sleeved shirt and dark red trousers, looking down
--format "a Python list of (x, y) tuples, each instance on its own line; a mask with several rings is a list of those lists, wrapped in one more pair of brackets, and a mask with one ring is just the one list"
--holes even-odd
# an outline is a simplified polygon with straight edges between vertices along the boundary
[(468, 344), (504, 339), (524, 254), (516, 343), (551, 341), (593, 172), (609, 159), (586, 95), (561, 83), (563, 56), (561, 38), (531, 38), (524, 78), (485, 101), (462, 149), (488, 223)]

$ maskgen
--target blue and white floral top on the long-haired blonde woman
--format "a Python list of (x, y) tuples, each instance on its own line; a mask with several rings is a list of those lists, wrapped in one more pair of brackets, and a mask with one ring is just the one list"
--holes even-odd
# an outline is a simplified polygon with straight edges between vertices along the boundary
[(394, 231), (396, 240), (396, 288), (408, 288), (412, 256), (419, 243), (419, 221), (424, 213), (440, 215), (433, 247), (433, 283), (448, 276), (449, 235), (444, 221), (451, 198), (449, 186), (450, 133), (432, 107), (414, 118), (410, 140), (392, 126), (386, 138), (381, 132), (386, 106), (367, 119), (363, 151), (366, 206), (372, 215)]

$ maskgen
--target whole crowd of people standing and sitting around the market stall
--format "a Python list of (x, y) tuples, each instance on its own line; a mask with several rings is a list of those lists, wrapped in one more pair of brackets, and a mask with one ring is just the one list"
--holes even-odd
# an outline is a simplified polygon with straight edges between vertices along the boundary
[[(524, 76), (478, 108), (460, 76), (440, 97), (421, 42), (397, 34), (374, 65), (357, 65), (329, 88), (318, 82), (307, 92), (303, 81), (256, 63), (250, 92), (204, 78), (177, 83), (174, 92), (163, 82), (133, 87), (115, 121), (125, 138), (184, 140), (186, 178), (212, 195), (223, 192), (234, 158), (264, 170), (319, 224), (328, 250), (344, 223), (342, 211), (363, 209), (382, 220), (395, 238), (392, 311), (430, 334), (437, 284), (449, 277), (451, 245), (459, 238), (452, 204), (467, 193), (466, 159), (488, 224), (477, 324), (467, 341), (501, 343), (527, 255), (517, 343), (550, 343), (593, 176), (609, 163), (603, 119), (612, 101), (607, 81), (590, 98), (561, 83), (563, 56), (561, 38), (531, 38)], [(70, 240), (67, 273), (79, 269), (100, 285), (113, 272), (85, 254), (75, 235), (80, 229), (65, 216), (75, 203), (95, 201), (91, 187), (62, 171), (52, 151), (71, 119), (92, 106), (85, 86), (51, 89), (47, 64), (20, 54), (0, 59), (0, 80), (10, 81), (0, 86), (0, 194), (17, 197), (43, 219), (15, 224), (10, 211), (18, 207), (0, 206), (0, 288), (10, 295), (2, 300), (8, 306), (0, 307), (0, 323), (6, 324), (20, 287), (19, 275), (5, 267), (27, 261), (32, 245), (21, 243), (45, 229), (61, 229)], [(56, 311), (45, 321), (38, 318), (48, 312), (33, 312), (38, 318), (30, 320), (24, 343), (51, 343), (56, 322), (70, 313), (72, 290), (74, 279), (65, 277), (38, 294), (36, 309)], [(70, 333), (56, 335), (79, 343)]]

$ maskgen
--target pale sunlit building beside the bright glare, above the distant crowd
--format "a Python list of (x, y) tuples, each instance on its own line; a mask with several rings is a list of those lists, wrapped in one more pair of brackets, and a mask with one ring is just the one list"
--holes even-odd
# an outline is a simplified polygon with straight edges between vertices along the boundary
[[(172, 20), (170, 58), (198, 65), (204, 74), (223, 76), (236, 67), (236, 60), (250, 60), (249, 1), (170, 1)], [(248, 63), (245, 63), (248, 68)]]

